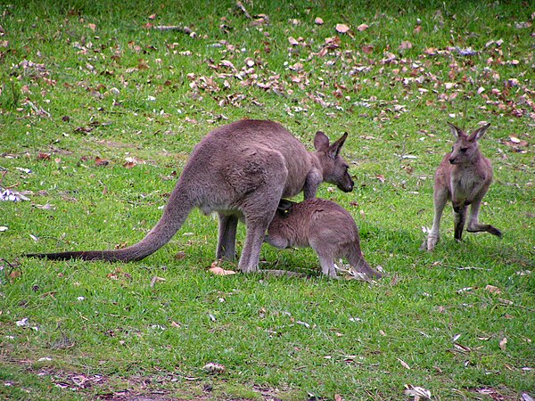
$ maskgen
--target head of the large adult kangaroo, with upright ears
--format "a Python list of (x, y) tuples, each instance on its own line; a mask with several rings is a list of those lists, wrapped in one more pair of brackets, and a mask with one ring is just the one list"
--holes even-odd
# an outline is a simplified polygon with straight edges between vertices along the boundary
[(323, 169), (324, 180), (336, 185), (343, 192), (351, 192), (354, 185), (349, 173), (350, 165), (340, 156), (340, 150), (347, 137), (348, 133), (345, 133), (338, 141), (329, 143), (327, 135), (317, 131), (314, 138), (314, 147)]

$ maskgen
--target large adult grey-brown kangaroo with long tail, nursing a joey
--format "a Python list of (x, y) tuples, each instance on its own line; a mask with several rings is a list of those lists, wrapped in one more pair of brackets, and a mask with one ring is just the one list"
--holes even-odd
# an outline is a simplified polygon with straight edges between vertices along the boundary
[(33, 254), (48, 259), (141, 260), (159, 250), (184, 224), (193, 208), (218, 212), (217, 258), (235, 258), (238, 219), (247, 227), (239, 268), (258, 270), (259, 252), (269, 222), (283, 197), (316, 196), (323, 181), (350, 192), (349, 165), (339, 156), (347, 133), (335, 143), (322, 132), (307, 151), (284, 127), (272, 121), (243, 119), (218, 127), (198, 143), (185, 164), (160, 221), (143, 240), (121, 250)]

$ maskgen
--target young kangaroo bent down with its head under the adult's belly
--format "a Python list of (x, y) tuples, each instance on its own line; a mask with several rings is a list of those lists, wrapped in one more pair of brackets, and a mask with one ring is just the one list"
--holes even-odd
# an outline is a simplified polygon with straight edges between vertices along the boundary
[(300, 203), (281, 200), (268, 226), (266, 242), (276, 248), (310, 247), (316, 251), (323, 274), (336, 277), (335, 258), (347, 258), (359, 273), (381, 278), (360, 251), (355, 220), (342, 206), (325, 199)]

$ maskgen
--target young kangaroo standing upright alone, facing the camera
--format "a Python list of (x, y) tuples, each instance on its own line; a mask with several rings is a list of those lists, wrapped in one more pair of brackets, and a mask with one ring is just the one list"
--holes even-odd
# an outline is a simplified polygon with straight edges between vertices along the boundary
[[(448, 123), (449, 124), (449, 123)], [(427, 238), (427, 250), (433, 250), (440, 238), (440, 217), (446, 203), (451, 200), (455, 215), (455, 239), (461, 241), (465, 227), (466, 209), (470, 207), (470, 218), (466, 231), (477, 233), (486, 231), (501, 237), (500, 231), (492, 225), (479, 222), (481, 200), (492, 182), (490, 160), (479, 150), (477, 141), (485, 134), (490, 124), (478, 128), (471, 135), (449, 124), (456, 138), (451, 153), (447, 153), (435, 173), (434, 219)]]

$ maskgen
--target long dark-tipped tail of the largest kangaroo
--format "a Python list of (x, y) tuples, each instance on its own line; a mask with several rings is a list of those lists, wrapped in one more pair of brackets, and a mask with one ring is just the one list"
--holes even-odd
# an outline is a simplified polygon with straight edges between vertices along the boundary
[(130, 262), (148, 257), (177, 233), (193, 209), (191, 197), (179, 188), (171, 193), (168, 204), (163, 210), (160, 221), (152, 227), (143, 240), (121, 250), (79, 250), (74, 252), (35, 253), (26, 255), (29, 258), (45, 258), (52, 260), (84, 259), (107, 260), (109, 262)]

